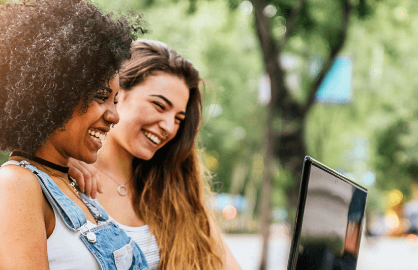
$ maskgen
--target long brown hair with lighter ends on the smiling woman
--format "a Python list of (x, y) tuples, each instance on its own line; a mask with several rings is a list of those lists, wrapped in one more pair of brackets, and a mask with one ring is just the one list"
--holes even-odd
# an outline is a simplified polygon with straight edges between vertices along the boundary
[(205, 204), (195, 146), (202, 114), (198, 70), (162, 42), (137, 40), (132, 58), (120, 70), (120, 87), (129, 91), (160, 73), (185, 81), (186, 116), (177, 135), (149, 161), (134, 159), (134, 209), (157, 239), (159, 269), (221, 269), (221, 242)]

